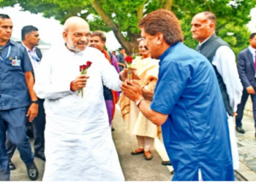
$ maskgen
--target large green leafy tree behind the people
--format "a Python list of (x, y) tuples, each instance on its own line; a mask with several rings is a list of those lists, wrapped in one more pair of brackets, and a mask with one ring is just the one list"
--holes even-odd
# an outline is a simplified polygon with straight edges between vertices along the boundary
[(246, 24), (255, 0), (0, 0), (0, 7), (20, 4), (23, 11), (42, 12), (61, 23), (78, 15), (89, 21), (92, 31), (113, 31), (119, 43), (131, 54), (137, 50), (140, 37), (138, 21), (148, 12), (163, 8), (172, 10), (181, 20), (184, 43), (195, 48), (189, 32), (192, 17), (198, 12), (211, 11), (218, 17), (217, 34), (235, 52), (246, 47), (249, 34)]

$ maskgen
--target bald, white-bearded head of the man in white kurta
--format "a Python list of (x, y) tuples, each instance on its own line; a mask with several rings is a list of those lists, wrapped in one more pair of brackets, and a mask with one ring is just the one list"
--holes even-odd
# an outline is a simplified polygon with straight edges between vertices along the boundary
[(86, 49), (91, 36), (89, 24), (81, 17), (69, 17), (64, 23), (63, 38), (72, 52)]

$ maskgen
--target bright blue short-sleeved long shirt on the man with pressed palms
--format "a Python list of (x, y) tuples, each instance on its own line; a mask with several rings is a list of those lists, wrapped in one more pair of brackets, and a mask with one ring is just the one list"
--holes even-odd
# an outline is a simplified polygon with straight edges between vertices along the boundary
[(173, 181), (234, 181), (227, 114), (214, 68), (178, 42), (160, 57), (151, 109), (167, 114), (162, 124)]

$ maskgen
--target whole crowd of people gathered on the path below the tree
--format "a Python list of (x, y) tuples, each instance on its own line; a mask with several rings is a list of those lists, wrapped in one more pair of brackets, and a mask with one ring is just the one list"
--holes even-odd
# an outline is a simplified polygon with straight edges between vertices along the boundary
[(0, 14), (0, 181), (9, 181), (15, 170), (16, 148), (33, 181), (34, 157), (45, 161), (43, 181), (124, 181), (111, 133), (118, 101), (127, 132), (138, 139), (132, 155), (151, 160), (161, 126), (170, 158), (162, 164), (173, 165), (173, 181), (234, 181), (235, 128), (245, 132), (249, 95), (256, 121), (256, 33), (236, 66), (233, 50), (216, 34), (214, 13), (198, 13), (191, 25), (195, 50), (183, 44), (173, 12), (144, 16), (129, 80), (125, 49), (118, 55), (105, 50), (105, 33), (91, 32), (86, 20), (69, 17), (64, 44), (42, 55), (36, 27), (23, 27), (19, 44), (10, 39), (11, 18)]

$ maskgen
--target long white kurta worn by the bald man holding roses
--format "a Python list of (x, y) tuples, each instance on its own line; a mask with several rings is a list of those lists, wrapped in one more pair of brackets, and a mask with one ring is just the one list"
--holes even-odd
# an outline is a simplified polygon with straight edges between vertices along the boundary
[[(91, 61), (84, 96), (69, 90), (80, 75), (79, 66)], [(124, 181), (108, 123), (102, 82), (120, 91), (113, 66), (87, 47), (75, 53), (64, 45), (45, 52), (34, 90), (45, 98), (45, 174), (43, 181)]]

